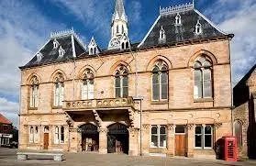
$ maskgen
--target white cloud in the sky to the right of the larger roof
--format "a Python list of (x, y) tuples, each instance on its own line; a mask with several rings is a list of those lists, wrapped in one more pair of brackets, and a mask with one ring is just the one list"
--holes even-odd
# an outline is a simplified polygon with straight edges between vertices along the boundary
[(231, 41), (233, 85), (256, 63), (256, 3), (253, 0), (218, 0), (206, 8), (206, 16), (225, 32), (234, 33)]

